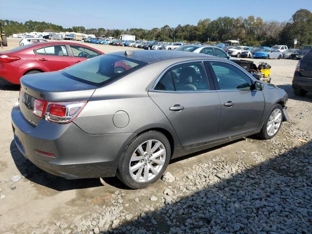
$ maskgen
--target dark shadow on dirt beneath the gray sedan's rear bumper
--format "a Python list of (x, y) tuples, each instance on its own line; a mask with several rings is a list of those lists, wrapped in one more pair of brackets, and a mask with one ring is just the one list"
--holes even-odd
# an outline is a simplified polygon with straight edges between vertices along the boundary
[(37, 183), (39, 185), (46, 186), (48, 188), (57, 191), (66, 191), (73, 189), (84, 189), (102, 186), (98, 178), (68, 180), (63, 177), (54, 176), (41, 170), (20, 153), (14, 140), (12, 140), (11, 142), (10, 151), (14, 163), (18, 168), (18, 170), (20, 171), (21, 175), (25, 176), (30, 181)]

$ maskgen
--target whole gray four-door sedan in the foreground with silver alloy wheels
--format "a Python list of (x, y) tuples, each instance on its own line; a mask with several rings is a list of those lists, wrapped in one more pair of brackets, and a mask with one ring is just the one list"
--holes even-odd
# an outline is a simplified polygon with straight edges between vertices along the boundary
[(228, 59), (126, 51), (21, 78), (11, 117), (20, 152), (68, 179), (156, 182), (172, 158), (257, 135), (288, 119), (284, 90)]

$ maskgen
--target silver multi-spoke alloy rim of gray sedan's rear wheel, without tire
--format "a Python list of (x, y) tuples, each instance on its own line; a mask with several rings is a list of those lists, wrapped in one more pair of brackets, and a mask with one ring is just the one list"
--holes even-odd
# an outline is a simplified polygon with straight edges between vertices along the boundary
[(166, 160), (166, 148), (156, 139), (143, 142), (133, 152), (129, 172), (137, 182), (148, 182), (159, 174)]

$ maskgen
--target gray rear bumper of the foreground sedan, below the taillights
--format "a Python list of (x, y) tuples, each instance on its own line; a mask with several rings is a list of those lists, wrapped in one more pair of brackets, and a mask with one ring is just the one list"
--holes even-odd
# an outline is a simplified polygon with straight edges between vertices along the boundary
[(14, 140), (23, 156), (42, 170), (67, 179), (115, 176), (119, 156), (136, 135), (89, 135), (74, 123), (56, 124), (44, 119), (33, 127), (21, 115), (18, 104), (11, 118)]

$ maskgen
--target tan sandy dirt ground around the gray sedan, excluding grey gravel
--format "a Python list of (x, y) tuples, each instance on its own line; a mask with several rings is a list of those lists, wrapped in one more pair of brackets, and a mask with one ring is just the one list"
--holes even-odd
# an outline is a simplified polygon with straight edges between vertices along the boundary
[[(0, 51), (17, 47), (19, 40), (9, 39), (9, 46), (0, 48)], [(105, 53), (125, 50), (125, 47), (88, 45)], [(287, 106), (294, 129), (301, 132), (311, 131), (312, 94), (298, 98), (293, 95), (291, 88), (297, 60), (253, 60), (256, 63), (265, 61), (272, 65), (272, 83), (289, 94)], [(117, 178), (105, 178), (104, 185), (99, 179), (66, 180), (50, 175), (31, 164), (20, 154), (13, 140), (10, 111), (18, 99), (18, 94), (18, 86), (0, 84), (2, 100), (0, 104), (0, 233), (32, 233), (33, 231), (34, 233), (74, 233), (74, 223), (92, 217), (105, 206), (111, 206), (111, 197), (116, 191), (124, 194), (123, 204), (128, 204), (128, 212), (133, 214), (137, 214), (137, 210), (140, 209), (134, 201), (136, 197), (140, 200), (139, 206), (145, 207), (151, 204), (149, 199), (151, 195), (163, 194), (167, 185), (161, 180), (146, 189), (129, 190)], [(282, 125), (276, 139), (284, 141), (288, 136), (290, 130), (285, 126), (288, 125)], [(167, 172), (182, 180), (186, 177), (183, 172), (192, 171), (192, 166), (208, 159), (218, 160), (220, 156), (229, 161), (239, 158), (245, 164), (252, 166), (258, 163), (248, 156), (254, 151), (261, 151), (264, 160), (269, 158), (271, 150), (264, 147), (264, 142), (253, 138), (241, 139), (225, 146), (185, 156), (171, 162)], [(298, 141), (298, 144), (300, 143)], [(284, 146), (276, 144), (275, 147), (277, 150), (283, 150)], [(246, 156), (238, 154), (237, 151), (244, 151)], [(12, 182), (11, 178), (17, 175), (22, 178)], [(60, 230), (59, 226), (55, 225), (59, 220), (67, 220), (69, 223), (67, 230), (70, 231)], [(81, 232), (87, 233), (87, 231)]]

